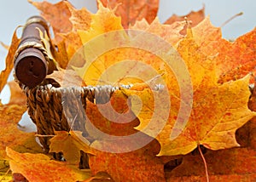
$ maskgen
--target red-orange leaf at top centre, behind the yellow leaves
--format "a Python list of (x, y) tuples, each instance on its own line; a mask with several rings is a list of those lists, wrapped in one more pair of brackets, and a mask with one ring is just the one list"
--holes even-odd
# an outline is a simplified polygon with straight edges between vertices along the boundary
[[(138, 0), (101, 0), (108, 9), (114, 9), (117, 16), (122, 17), (122, 25), (128, 28), (137, 20), (147, 20), (150, 24), (156, 17), (159, 0), (138, 1)], [(100, 3), (98, 2), (98, 5)], [(101, 6), (101, 5), (99, 5)]]

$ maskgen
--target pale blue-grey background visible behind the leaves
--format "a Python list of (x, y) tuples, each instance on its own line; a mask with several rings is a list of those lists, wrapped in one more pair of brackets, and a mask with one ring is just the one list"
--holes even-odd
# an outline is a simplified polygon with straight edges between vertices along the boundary
[[(49, 0), (51, 3), (59, 2)], [(96, 12), (95, 0), (70, 0), (73, 5), (80, 9), (86, 7), (90, 12)], [(243, 12), (243, 15), (232, 20), (222, 28), (223, 37), (235, 39), (236, 37), (253, 30), (256, 26), (256, 1), (255, 0), (160, 0), (159, 18), (161, 22), (167, 20), (172, 14), (185, 15), (191, 10), (197, 11), (205, 4), (206, 15), (210, 15), (213, 26), (221, 26), (225, 20), (231, 16)], [(26, 0), (0, 1), (0, 41), (9, 44), (16, 26), (24, 25), (26, 20), (39, 14), (32, 4)], [(0, 46), (0, 70), (3, 70), (4, 59), (7, 51)], [(7, 102), (9, 97), (8, 88), (0, 94), (3, 102)]]

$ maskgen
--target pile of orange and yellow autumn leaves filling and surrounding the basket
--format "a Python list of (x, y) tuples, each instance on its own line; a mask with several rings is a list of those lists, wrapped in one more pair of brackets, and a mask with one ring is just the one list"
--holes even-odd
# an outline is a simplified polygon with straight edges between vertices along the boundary
[[(109, 2), (108, 5), (107, 2)], [(120, 2), (123, 3), (119, 4)], [(131, 30), (147, 31), (162, 38), (177, 50), (177, 53), (180, 54), (187, 65), (193, 87), (193, 104), (191, 105), (189, 121), (184, 128), (181, 128), (181, 126), (175, 128), (181, 129), (182, 133), (175, 139), (170, 139), (170, 134), (176, 126), (180, 107), (179, 85), (172, 70), (168, 69), (166, 65), (162, 65), (163, 62), (159, 57), (145, 53), (142, 50), (133, 50), (133, 53), (125, 48), (112, 50), (110, 54), (103, 54), (99, 58), (99, 62), (96, 60), (86, 74), (83, 67), (77, 68), (79, 76), (84, 79), (87, 85), (94, 85), (96, 84), (94, 81), (101, 76), (108, 66), (119, 60), (128, 59), (124, 56), (127, 53), (130, 53), (129, 56), (131, 57), (129, 59), (141, 60), (143, 63), (154, 67), (165, 80), (170, 100), (172, 100), (172, 110), (160, 134), (148, 145), (137, 151), (119, 154), (97, 151), (89, 149), (88, 146), (75, 144), (73, 148), (77, 151), (75, 151), (76, 155), (74, 156), (76, 158), (74, 158), (72, 156), (74, 151), (70, 151), (68, 146), (70, 143), (75, 143), (77, 135), (59, 132), (52, 139), (51, 151), (62, 151), (67, 162), (55, 162), (50, 160), (49, 156), (38, 154), (42, 151), (32, 141), (33, 134), (24, 134), (16, 130), (15, 124), (18, 121), (10, 114), (13, 113), (20, 117), (26, 108), (16, 105), (17, 103), (1, 105), (0, 114), (3, 116), (0, 119), (1, 128), (6, 128), (5, 125), (9, 126), (6, 131), (1, 131), (1, 140), (3, 140), (1, 158), (7, 158), (4, 152), (7, 146), (6, 152), (10, 158), (9, 164), (13, 173), (21, 173), (29, 181), (82, 181), (85, 179), (85, 181), (90, 181), (90, 179), (96, 178), (107, 180), (108, 175), (106, 173), (115, 181), (165, 181), (183, 178), (197, 178), (203, 181), (204, 178), (196, 177), (205, 175), (201, 158), (190, 153), (198, 145), (203, 145), (211, 150), (207, 152), (206, 158), (212, 180), (256, 179), (254, 174), (256, 161), (253, 159), (256, 152), (253, 148), (255, 144), (252, 137), (247, 138), (247, 140), (251, 140), (247, 141), (244, 149), (229, 149), (239, 146), (236, 141), (236, 130), (238, 128), (247, 123), (247, 133), (251, 134), (255, 130), (253, 122), (248, 125), (248, 121), (255, 116), (255, 112), (248, 109), (248, 101), (251, 96), (248, 85), (253, 82), (252, 73), (256, 65), (255, 29), (237, 38), (234, 43), (230, 43), (222, 38), (219, 28), (211, 25), (209, 17), (204, 18), (203, 9), (188, 14), (186, 21), (179, 21), (177, 17), (172, 17), (166, 21), (166, 24), (161, 24), (155, 18), (158, 1), (145, 4), (143, 1), (102, 0), (98, 2), (99, 9), (96, 14), (90, 14), (86, 9), (74, 9), (67, 1), (56, 4), (47, 2), (31, 3), (41, 11), (44, 18), (52, 26), (55, 34), (52, 43), (58, 47), (58, 50), (52, 49), (52, 56), (58, 65), (64, 69), (84, 43), (103, 33), (129, 28)], [(130, 9), (127, 10), (127, 6)], [(1, 89), (6, 83), (6, 75), (9, 75), (9, 71), (13, 67), (12, 58), (18, 43), (19, 39), (14, 35), (7, 57), (7, 69), (1, 72), (0, 76)], [(108, 61), (100, 69), (97, 69), (97, 71), (100, 71), (96, 73), (95, 65), (99, 64), (102, 59)], [(129, 82), (137, 84), (137, 80), (133, 82), (130, 79)], [(137, 114), (139, 125), (136, 129), (133, 128), (134, 122), (130, 125), (124, 125), (124, 128), (119, 128), (116, 123), (109, 124), (109, 121), (97, 111), (96, 105), (87, 102), (86, 114), (90, 121), (108, 134), (129, 135), (142, 132), (147, 136), (154, 137), (150, 129), (143, 129), (148, 125), (150, 117), (153, 115), (154, 101), (148, 99), (153, 98), (153, 94), (148, 91), (146, 84), (140, 83), (136, 86), (131, 90), (116, 91), (110, 100), (114, 109), (121, 112), (127, 110), (124, 104), (126, 103), (126, 97), (140, 96), (143, 100), (143, 109)], [(124, 102), (122, 103), (120, 100)], [(250, 101), (251, 108), (254, 107), (253, 100), (254, 97)], [(133, 105), (136, 105), (136, 103), (131, 100), (131, 111)], [(14, 123), (9, 123), (14, 120)], [(156, 128), (157, 126), (152, 127)], [(19, 139), (15, 138), (15, 142), (10, 143), (9, 140), (14, 131), (15, 134), (20, 134)], [(253, 136), (253, 134), (251, 135)], [(57, 145), (58, 142), (61, 142), (62, 146)], [(94, 145), (104, 145), (104, 143), (96, 141), (90, 144), (91, 148)], [(218, 151), (221, 149), (229, 150), (224, 150), (226, 153)], [(80, 150), (92, 154), (89, 155), (90, 172), (78, 168), (79, 158), (77, 156), (79, 156), (79, 153), (77, 155), (77, 152)], [(37, 154), (22, 154), (24, 152)], [(242, 156), (247, 156), (247, 159)], [(227, 158), (236, 158), (238, 163), (233, 162), (231, 164), (231, 161)], [(182, 164), (166, 174), (164, 171), (165, 163), (177, 159), (182, 159)], [(223, 165), (223, 163), (215, 160), (223, 160), (225, 164)], [(239, 162), (250, 162), (250, 168), (248, 166), (244, 166), (243, 169), (238, 168), (237, 166), (241, 164)], [(220, 165), (222, 165), (222, 171), (219, 169)], [(104, 172), (104, 174), (97, 174), (99, 172)], [(247, 173), (250, 173), (250, 175), (245, 175)], [(220, 174), (222, 174), (222, 177)], [(94, 175), (96, 177), (91, 177)]]

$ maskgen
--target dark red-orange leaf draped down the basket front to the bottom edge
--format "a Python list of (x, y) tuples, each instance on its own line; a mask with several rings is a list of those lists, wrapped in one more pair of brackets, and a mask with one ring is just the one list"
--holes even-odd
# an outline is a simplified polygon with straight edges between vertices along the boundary
[(114, 181), (164, 181), (163, 163), (155, 156), (160, 145), (134, 129), (138, 120), (125, 103), (122, 91), (106, 104), (86, 103), (86, 129), (94, 139), (90, 147), (96, 149), (89, 156), (90, 169), (93, 174), (109, 173)]

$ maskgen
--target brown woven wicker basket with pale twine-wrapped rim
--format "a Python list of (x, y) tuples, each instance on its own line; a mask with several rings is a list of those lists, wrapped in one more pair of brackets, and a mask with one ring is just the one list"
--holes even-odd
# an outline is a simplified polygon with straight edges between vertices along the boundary
[[(123, 86), (130, 88), (131, 86)], [(61, 88), (54, 79), (45, 79), (35, 88), (21, 85), (27, 97), (28, 114), (38, 128), (40, 135), (53, 135), (55, 131), (73, 130), (82, 132), (84, 138), (88, 137), (85, 130), (86, 100), (104, 104), (108, 102), (113, 92), (119, 87), (70, 87)], [(68, 105), (73, 105), (69, 107)], [(39, 137), (40, 143), (46, 152), (49, 151), (49, 139), (51, 137)], [(62, 155), (54, 154), (61, 160)], [(81, 151), (80, 168), (89, 168), (88, 157)]]

